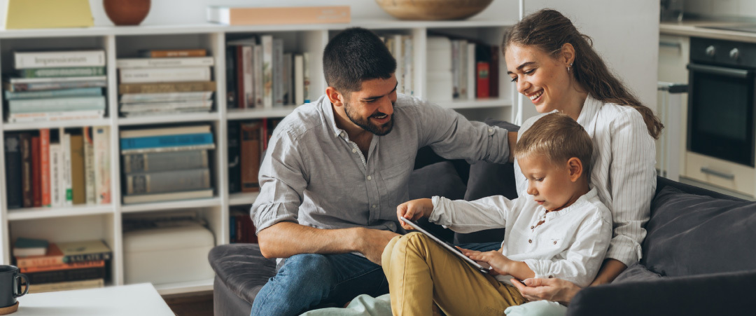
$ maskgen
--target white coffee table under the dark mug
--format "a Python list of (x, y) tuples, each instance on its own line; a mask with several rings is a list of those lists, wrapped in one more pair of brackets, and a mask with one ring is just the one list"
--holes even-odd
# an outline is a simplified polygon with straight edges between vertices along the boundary
[(18, 311), (11, 316), (175, 316), (150, 283), (26, 294), (18, 302)]

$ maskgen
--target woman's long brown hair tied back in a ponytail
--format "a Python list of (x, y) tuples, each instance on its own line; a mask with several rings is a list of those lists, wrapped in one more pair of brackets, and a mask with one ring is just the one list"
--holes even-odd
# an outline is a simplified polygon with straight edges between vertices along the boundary
[(504, 34), (501, 48), (504, 52), (512, 44), (533, 46), (557, 58), (561, 56), (562, 46), (566, 43), (575, 48), (572, 76), (578, 84), (599, 101), (633, 107), (643, 116), (649, 135), (658, 138), (664, 129), (662, 121), (609, 72), (599, 54), (593, 50), (590, 37), (578, 32), (572, 21), (559, 11), (543, 9), (520, 20)]

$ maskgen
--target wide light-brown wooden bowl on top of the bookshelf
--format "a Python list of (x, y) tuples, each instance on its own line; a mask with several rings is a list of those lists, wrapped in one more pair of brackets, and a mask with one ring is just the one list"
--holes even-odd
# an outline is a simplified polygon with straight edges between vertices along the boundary
[(462, 20), (483, 11), (493, 0), (376, 0), (401, 20)]

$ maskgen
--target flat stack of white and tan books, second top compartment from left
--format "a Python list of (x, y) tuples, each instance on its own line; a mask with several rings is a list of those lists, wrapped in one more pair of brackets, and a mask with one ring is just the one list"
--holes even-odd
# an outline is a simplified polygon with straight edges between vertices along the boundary
[(122, 116), (212, 110), (212, 56), (205, 49), (143, 51), (116, 60)]

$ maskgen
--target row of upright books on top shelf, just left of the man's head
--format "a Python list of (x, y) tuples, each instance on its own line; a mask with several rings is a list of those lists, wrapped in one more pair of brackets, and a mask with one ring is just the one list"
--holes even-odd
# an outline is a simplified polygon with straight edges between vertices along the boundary
[(310, 102), (308, 53), (283, 51), (283, 39), (262, 35), (226, 48), (228, 108), (271, 108)]

